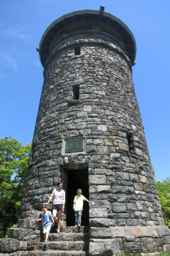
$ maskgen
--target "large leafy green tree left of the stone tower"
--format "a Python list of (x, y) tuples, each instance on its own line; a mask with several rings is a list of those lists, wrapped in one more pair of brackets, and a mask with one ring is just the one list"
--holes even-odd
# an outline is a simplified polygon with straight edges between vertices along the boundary
[(22, 146), (16, 139), (0, 140), (0, 237), (17, 223), (25, 186), (31, 144)]

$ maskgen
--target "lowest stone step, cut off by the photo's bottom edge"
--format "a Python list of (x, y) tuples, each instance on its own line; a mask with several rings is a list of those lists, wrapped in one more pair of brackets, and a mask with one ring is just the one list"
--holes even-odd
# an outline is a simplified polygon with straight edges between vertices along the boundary
[(29, 256), (89, 256), (88, 251), (55, 251), (55, 250), (47, 250), (47, 251), (34, 251), (30, 252)]

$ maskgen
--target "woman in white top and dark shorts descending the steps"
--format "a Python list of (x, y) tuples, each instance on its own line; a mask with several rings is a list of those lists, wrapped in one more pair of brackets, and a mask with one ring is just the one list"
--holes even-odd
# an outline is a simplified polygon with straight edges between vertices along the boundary
[[(64, 210), (65, 206), (65, 191), (62, 189), (63, 183), (58, 182), (57, 183), (58, 188), (53, 190), (53, 193), (48, 200), (47, 204), (50, 203), (50, 201), (53, 199), (53, 218), (54, 221), (58, 223), (58, 229), (57, 233), (60, 234), (60, 226), (61, 226), (61, 214), (62, 210)], [(58, 211), (58, 219), (57, 219), (57, 211)]]

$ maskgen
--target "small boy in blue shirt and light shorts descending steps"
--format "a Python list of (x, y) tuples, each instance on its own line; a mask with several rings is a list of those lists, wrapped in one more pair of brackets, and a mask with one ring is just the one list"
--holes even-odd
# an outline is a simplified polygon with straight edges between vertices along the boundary
[(44, 244), (47, 244), (50, 229), (52, 227), (52, 223), (53, 223), (53, 226), (54, 226), (54, 219), (53, 219), (53, 216), (51, 214), (51, 211), (47, 210), (46, 204), (42, 205), (41, 209), (43, 211), (43, 215), (40, 219), (35, 219), (35, 221), (42, 221), (43, 220), (43, 224), (44, 224), (43, 233), (44, 233), (44, 238), (45, 238)]

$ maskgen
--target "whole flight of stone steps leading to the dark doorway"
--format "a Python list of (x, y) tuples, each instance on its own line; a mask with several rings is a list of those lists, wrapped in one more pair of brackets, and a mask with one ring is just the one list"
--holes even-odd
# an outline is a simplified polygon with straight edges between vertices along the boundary
[(47, 245), (38, 242), (36, 254), (40, 253), (39, 255), (46, 256), (89, 255), (89, 227), (62, 227), (60, 231), (61, 234), (50, 234)]

